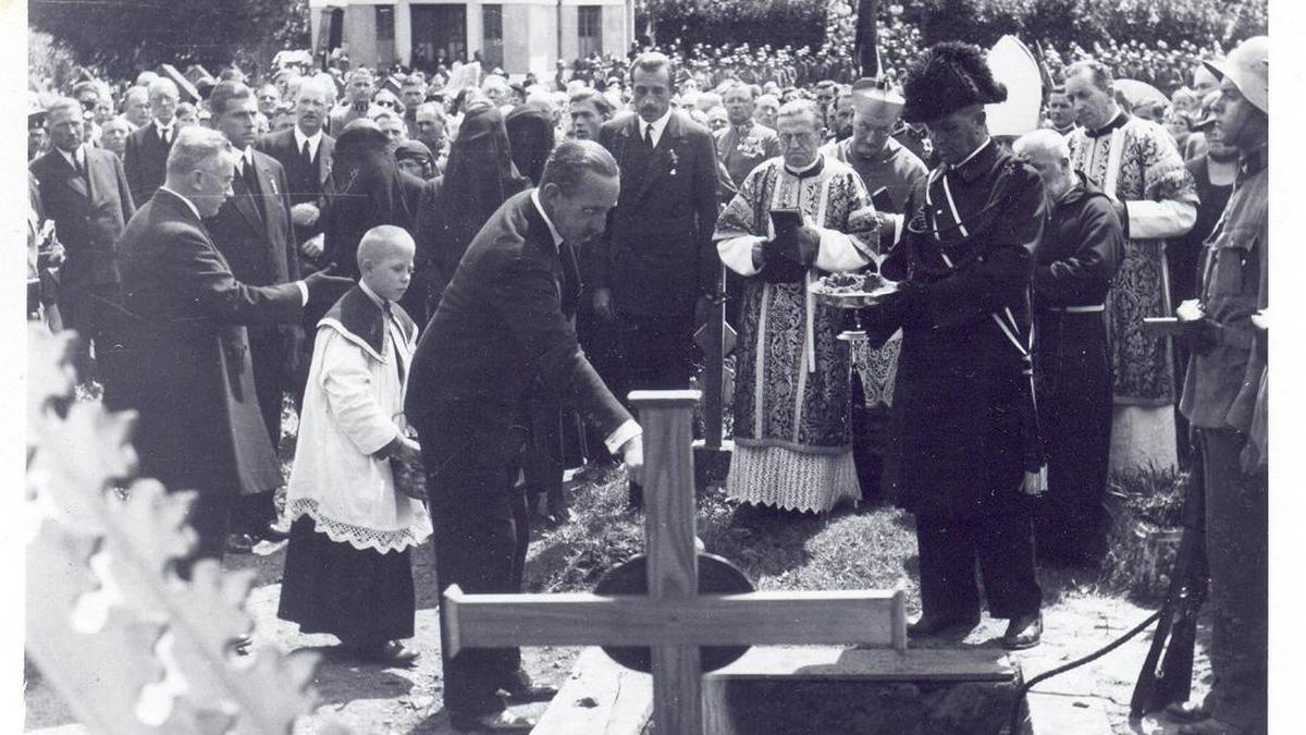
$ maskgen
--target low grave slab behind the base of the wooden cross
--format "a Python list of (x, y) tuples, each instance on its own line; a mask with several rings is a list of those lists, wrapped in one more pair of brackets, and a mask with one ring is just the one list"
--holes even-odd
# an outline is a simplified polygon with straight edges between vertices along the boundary
[[(714, 735), (996, 734), (1020, 676), (995, 649), (754, 647), (704, 676), (704, 725)], [(534, 734), (641, 735), (652, 705), (649, 676), (586, 649)]]

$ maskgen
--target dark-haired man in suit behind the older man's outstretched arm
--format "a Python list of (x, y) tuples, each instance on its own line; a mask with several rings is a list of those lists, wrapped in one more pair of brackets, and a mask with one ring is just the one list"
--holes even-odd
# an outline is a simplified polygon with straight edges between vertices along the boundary
[[(209, 110), (213, 127), (226, 136), (239, 156), (231, 197), (217, 214), (204, 220), (213, 245), (240, 282), (268, 286), (298, 280), (290, 187), (281, 163), (253, 149), (255, 115), (259, 114), (253, 90), (238, 81), (221, 82), (209, 94)], [(248, 337), (255, 394), (263, 424), (276, 447), (281, 443), (281, 398), (290, 375), (287, 361), (296, 354), (295, 347), (303, 335), (291, 324), (260, 324), (249, 327)], [(269, 490), (236, 502), (231, 519), (236, 539), (231, 551), (246, 551), (253, 539), (269, 535), (268, 523), (276, 517), (272, 496)]]

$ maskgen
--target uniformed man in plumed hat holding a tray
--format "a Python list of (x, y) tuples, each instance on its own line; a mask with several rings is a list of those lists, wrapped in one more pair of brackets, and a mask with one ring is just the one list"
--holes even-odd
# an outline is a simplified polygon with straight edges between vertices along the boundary
[(885, 473), (916, 515), (922, 616), (913, 637), (980, 621), (976, 565), (1002, 642), (1042, 636), (1032, 496), (1046, 489), (1033, 405), (1029, 281), (1045, 220), (1038, 173), (989, 136), (1006, 99), (983, 52), (940, 43), (910, 69), (902, 118), (943, 165), (917, 186), (880, 267), (900, 290), (867, 309), (872, 345), (902, 330)]

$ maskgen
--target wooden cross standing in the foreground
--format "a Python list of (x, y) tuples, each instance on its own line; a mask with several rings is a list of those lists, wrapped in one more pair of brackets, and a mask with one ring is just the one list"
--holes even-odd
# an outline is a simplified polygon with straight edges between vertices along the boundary
[(660, 732), (703, 732), (700, 646), (872, 645), (906, 650), (901, 590), (699, 594), (692, 409), (697, 391), (636, 391), (644, 429), (646, 595), (444, 594), (451, 655), (466, 647), (649, 646)]

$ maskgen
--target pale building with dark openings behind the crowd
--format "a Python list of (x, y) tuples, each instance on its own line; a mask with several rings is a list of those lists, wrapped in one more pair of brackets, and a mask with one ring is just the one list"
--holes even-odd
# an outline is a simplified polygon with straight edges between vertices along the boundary
[(434, 67), (471, 59), (486, 71), (547, 78), (558, 59), (624, 55), (633, 0), (310, 0), (313, 48), (343, 46), (354, 65)]

